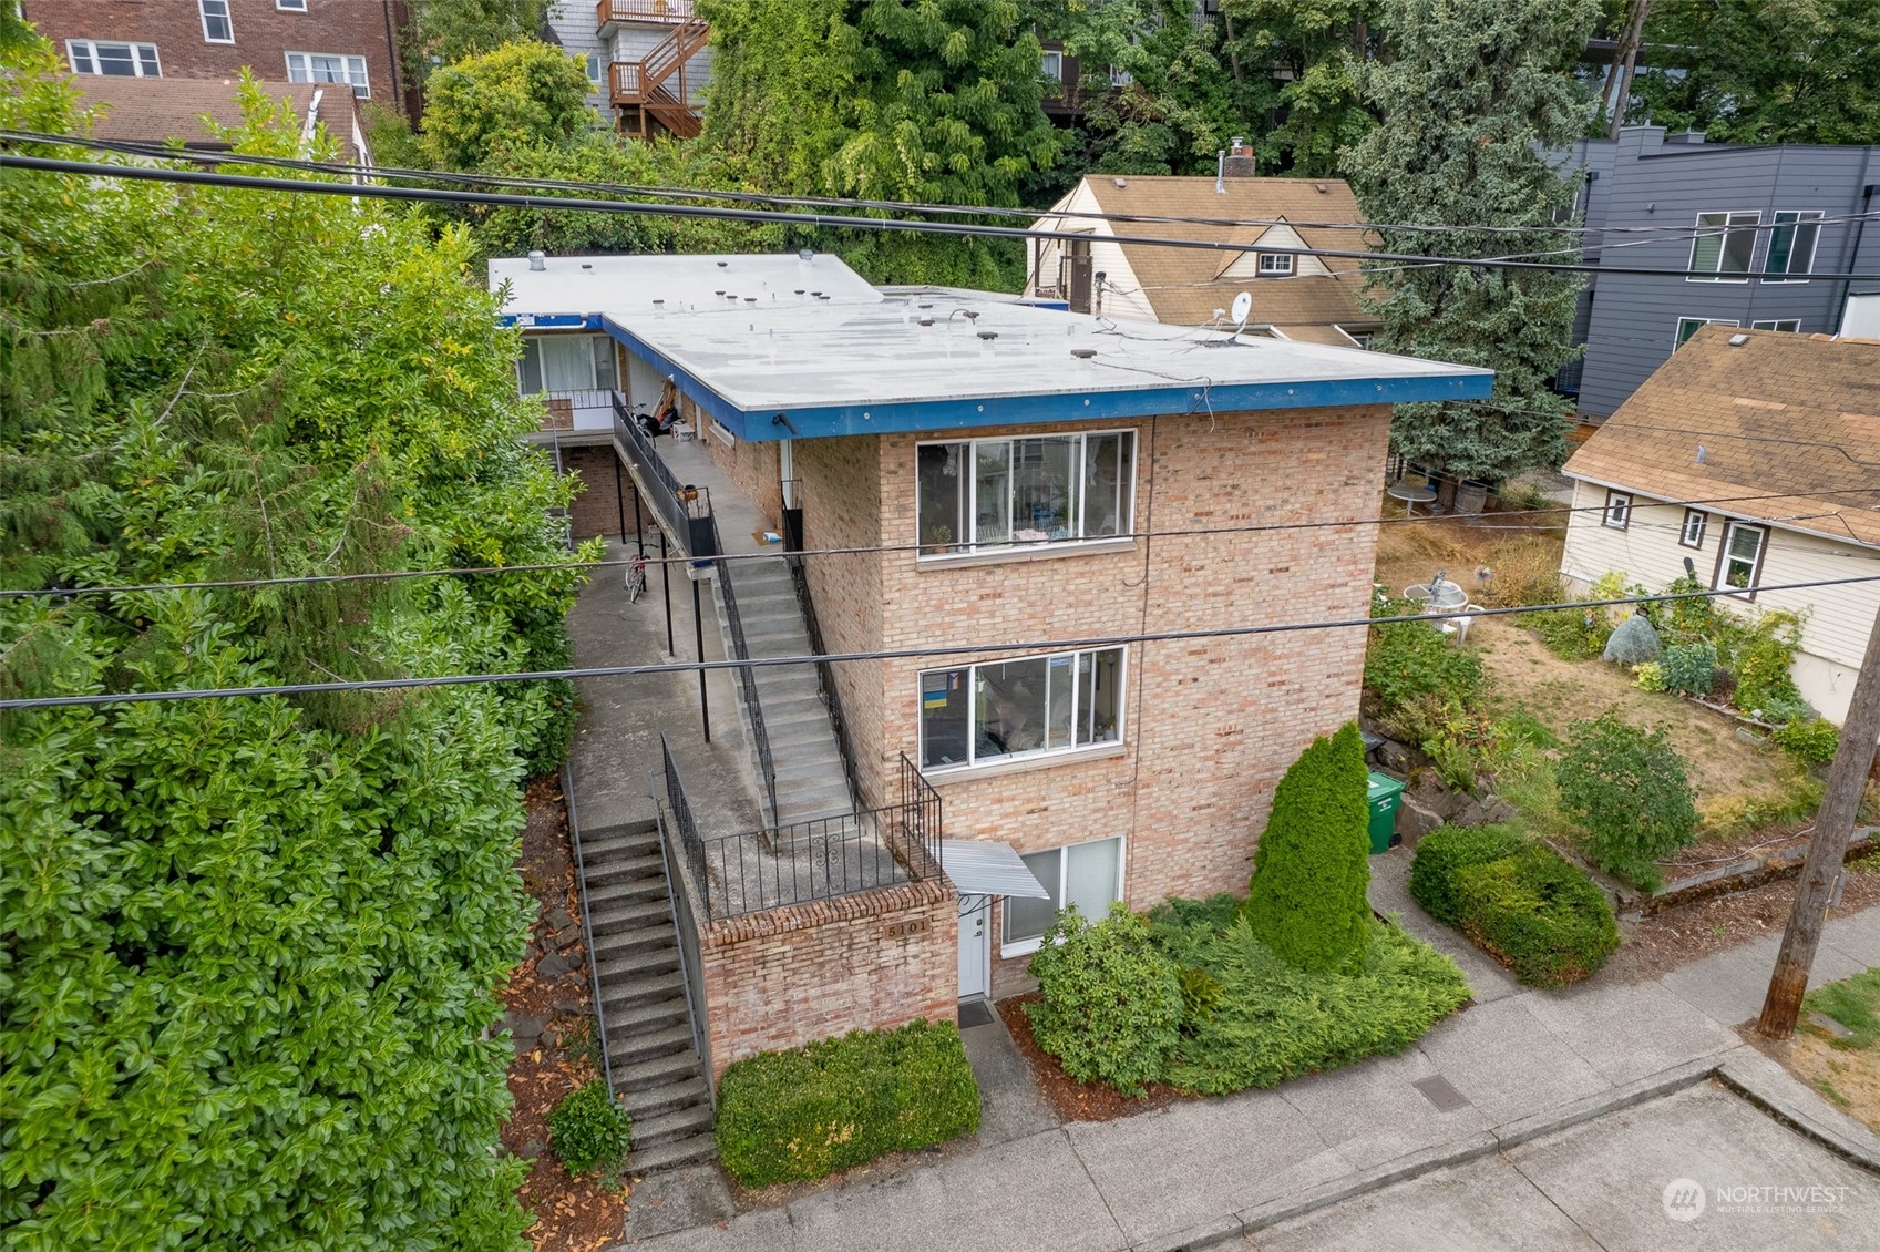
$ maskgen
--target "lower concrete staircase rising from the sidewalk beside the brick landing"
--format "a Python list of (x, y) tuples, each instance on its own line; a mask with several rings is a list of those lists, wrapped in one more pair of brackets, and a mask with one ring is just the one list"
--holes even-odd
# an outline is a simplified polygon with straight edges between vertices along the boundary
[(581, 865), (607, 1064), (634, 1119), (626, 1167), (645, 1175), (711, 1160), (711, 1090), (692, 1047), (660, 831), (652, 822), (583, 831)]

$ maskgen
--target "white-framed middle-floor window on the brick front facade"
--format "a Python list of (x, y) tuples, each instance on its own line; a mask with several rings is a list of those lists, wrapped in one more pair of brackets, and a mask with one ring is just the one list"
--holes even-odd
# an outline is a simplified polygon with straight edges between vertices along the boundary
[(923, 669), (921, 769), (1122, 743), (1122, 649)]

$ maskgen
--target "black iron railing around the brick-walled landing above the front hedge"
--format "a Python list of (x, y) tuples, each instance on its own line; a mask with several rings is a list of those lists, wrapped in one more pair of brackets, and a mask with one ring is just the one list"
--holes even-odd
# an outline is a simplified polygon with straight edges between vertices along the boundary
[(899, 805), (767, 831), (699, 833), (666, 750), (666, 806), (711, 919), (940, 878), (940, 793), (901, 756)]

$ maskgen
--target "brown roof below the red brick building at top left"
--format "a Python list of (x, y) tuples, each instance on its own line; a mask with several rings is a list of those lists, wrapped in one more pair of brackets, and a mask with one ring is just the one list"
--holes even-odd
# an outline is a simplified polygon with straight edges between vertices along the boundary
[[(83, 92), (79, 102), (96, 109), (92, 135), (130, 143), (164, 143), (182, 139), (184, 147), (226, 150), (203, 124), (203, 115), (222, 126), (241, 126), (237, 102), (239, 79), (118, 79), (102, 75), (73, 75), (71, 85)], [(353, 149), (353, 94), (344, 83), (263, 83), (274, 100), (293, 103), (293, 113), (306, 118), (314, 92), (320, 92), (320, 120), (340, 143), (340, 160), (357, 164)]]

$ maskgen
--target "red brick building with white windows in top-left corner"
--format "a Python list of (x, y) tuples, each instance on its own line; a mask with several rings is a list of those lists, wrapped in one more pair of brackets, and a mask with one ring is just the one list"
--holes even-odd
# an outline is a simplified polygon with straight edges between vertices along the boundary
[(357, 100), (417, 100), (399, 64), (399, 0), (23, 0), (77, 75), (344, 83)]

